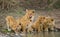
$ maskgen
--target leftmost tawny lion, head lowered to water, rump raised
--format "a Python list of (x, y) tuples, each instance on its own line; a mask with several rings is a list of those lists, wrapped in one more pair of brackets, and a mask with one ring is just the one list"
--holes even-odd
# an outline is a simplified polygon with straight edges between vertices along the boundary
[(6, 24), (8, 31), (13, 30), (16, 34), (19, 33), (21, 26), (17, 23), (17, 21), (13, 18), (13, 16), (6, 17)]

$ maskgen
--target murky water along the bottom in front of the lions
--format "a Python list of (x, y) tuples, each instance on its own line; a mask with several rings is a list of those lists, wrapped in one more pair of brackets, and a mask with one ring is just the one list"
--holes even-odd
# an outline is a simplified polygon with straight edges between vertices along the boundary
[(27, 33), (27, 34), (0, 34), (0, 37), (60, 37), (60, 32), (40, 32), (40, 33)]

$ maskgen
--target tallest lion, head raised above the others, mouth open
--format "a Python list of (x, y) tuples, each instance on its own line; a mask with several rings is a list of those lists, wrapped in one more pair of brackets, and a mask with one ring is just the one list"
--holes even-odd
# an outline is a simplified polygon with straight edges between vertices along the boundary
[(17, 22), (19, 23), (19, 25), (22, 26), (22, 31), (25, 33), (27, 26), (33, 21), (34, 19), (34, 15), (35, 15), (35, 10), (28, 10), (26, 9), (26, 14), (17, 19)]

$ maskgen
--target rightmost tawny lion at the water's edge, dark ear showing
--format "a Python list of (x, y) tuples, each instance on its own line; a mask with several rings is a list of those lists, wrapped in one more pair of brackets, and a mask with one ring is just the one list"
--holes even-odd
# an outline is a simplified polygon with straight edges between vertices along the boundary
[(48, 31), (48, 29), (54, 30), (54, 27), (55, 27), (55, 20), (51, 17), (46, 17), (43, 24), (44, 31)]

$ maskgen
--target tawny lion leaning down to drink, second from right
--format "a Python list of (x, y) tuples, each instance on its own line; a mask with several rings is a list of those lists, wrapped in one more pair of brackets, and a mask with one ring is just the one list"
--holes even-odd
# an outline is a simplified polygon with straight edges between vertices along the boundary
[(28, 29), (28, 31), (37, 31), (37, 32), (41, 32), (43, 31), (43, 20), (45, 19), (45, 17), (43, 16), (38, 16), (37, 20), (31, 25), (31, 27)]

